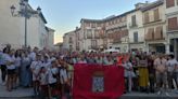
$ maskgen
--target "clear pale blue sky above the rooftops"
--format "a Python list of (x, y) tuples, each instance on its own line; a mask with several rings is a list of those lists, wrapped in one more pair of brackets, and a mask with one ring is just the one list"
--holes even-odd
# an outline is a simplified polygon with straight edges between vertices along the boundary
[(80, 26), (81, 18), (102, 19), (135, 9), (138, 2), (155, 0), (29, 0), (30, 5), (41, 8), (50, 28), (55, 30), (54, 43), (63, 41), (63, 34)]

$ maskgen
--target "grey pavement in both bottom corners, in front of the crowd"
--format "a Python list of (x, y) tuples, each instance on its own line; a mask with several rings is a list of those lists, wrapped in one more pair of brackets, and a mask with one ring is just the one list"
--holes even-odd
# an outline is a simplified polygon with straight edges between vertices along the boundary
[[(0, 72), (1, 75), (1, 72)], [(120, 99), (178, 99), (178, 93), (169, 90), (169, 97), (165, 94), (157, 96), (156, 94), (140, 94), (140, 93), (130, 93), (124, 95)], [(0, 77), (0, 99), (33, 99), (33, 89), (31, 88), (21, 88), (14, 89), (12, 91), (7, 91), (5, 86), (2, 85)]]

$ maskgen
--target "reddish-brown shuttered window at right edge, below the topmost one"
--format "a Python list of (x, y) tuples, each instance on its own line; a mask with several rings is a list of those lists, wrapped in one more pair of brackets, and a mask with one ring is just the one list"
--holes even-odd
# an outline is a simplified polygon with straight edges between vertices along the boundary
[(177, 17), (168, 18), (168, 30), (178, 30)]

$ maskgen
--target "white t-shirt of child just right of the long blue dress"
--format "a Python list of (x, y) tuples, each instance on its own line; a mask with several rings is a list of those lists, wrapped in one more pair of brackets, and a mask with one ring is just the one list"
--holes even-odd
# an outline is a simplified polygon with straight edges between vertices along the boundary
[(39, 71), (41, 69), (42, 62), (41, 61), (33, 61), (30, 65), (30, 69), (33, 70), (33, 81), (39, 80)]

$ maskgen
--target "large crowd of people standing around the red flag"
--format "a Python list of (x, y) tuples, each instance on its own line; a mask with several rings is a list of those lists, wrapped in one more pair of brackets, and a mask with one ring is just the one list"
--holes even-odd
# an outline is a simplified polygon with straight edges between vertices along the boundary
[(165, 93), (178, 87), (178, 61), (174, 55), (131, 52), (54, 52), (47, 48), (0, 51), (2, 85), (8, 91), (34, 87), (34, 94), (44, 97), (69, 97), (75, 63), (97, 63), (125, 69), (126, 93)]

